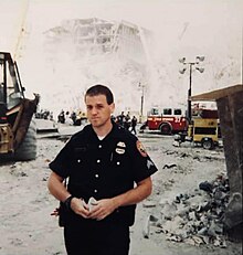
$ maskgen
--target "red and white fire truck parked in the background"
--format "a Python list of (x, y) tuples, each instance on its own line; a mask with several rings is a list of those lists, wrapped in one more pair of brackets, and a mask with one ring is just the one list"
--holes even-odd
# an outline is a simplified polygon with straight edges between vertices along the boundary
[(181, 108), (162, 108), (160, 111), (158, 107), (149, 110), (147, 120), (140, 127), (140, 131), (145, 129), (158, 130), (162, 135), (171, 135), (188, 129), (188, 121), (182, 114)]

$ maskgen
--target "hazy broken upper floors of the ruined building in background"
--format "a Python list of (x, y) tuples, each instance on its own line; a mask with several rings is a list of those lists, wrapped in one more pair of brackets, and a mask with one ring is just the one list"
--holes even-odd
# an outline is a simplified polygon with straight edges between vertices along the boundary
[[(44, 32), (49, 54), (63, 51), (75, 56), (118, 54), (123, 59), (145, 64), (152, 44), (152, 33), (127, 21), (107, 21), (97, 18), (65, 20), (60, 26)], [(73, 45), (73, 49), (66, 49)]]

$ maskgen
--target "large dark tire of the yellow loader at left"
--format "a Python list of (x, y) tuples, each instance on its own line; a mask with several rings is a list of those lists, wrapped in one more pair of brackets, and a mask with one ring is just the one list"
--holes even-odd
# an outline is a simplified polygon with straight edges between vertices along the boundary
[(14, 152), (14, 160), (25, 161), (36, 158), (36, 124), (32, 119), (27, 135)]

